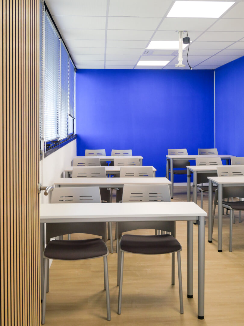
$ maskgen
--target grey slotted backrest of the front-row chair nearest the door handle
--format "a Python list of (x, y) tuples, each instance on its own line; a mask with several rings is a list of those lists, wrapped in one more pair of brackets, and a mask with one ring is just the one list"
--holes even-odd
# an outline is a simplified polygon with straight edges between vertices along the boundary
[[(54, 188), (51, 195), (51, 203), (100, 203), (99, 187), (61, 187)], [(87, 233), (101, 236), (107, 240), (106, 222), (82, 222), (82, 223), (47, 223), (46, 243), (50, 238), (63, 234)]]

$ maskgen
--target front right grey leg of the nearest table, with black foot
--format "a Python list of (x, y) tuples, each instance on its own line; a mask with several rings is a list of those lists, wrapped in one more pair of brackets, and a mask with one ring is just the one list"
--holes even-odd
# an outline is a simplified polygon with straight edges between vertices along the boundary
[(204, 319), (205, 218), (198, 217), (198, 305), (197, 318)]

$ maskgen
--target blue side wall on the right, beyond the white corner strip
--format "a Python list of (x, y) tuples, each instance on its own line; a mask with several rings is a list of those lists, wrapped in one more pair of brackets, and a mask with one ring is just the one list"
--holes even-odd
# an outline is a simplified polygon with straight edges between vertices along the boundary
[(244, 156), (244, 57), (215, 70), (216, 148)]

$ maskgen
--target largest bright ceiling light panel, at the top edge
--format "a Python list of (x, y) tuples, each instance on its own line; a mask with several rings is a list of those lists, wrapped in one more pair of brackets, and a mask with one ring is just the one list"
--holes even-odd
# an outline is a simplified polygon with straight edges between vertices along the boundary
[(219, 18), (235, 2), (175, 1), (167, 17)]

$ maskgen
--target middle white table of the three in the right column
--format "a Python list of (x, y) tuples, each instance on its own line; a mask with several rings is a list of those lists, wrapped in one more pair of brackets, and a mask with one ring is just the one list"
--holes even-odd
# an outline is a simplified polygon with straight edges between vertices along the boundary
[[(193, 201), (197, 204), (197, 173), (217, 176), (217, 165), (187, 165), (187, 201), (191, 201), (191, 173), (193, 172)], [(211, 175), (212, 174), (212, 175)]]

